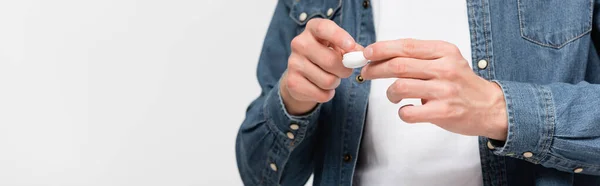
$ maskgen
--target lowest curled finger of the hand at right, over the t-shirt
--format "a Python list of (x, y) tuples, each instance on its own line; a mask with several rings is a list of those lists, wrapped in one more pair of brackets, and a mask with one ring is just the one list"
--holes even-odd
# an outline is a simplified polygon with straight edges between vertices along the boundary
[(442, 102), (429, 100), (425, 105), (405, 106), (398, 109), (398, 115), (407, 123), (438, 123), (450, 113), (450, 109)]

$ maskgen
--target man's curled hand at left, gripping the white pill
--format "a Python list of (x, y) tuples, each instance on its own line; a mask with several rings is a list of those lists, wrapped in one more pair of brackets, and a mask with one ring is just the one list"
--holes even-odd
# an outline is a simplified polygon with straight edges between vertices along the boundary
[(287, 111), (293, 115), (331, 100), (340, 78), (352, 74), (352, 69), (343, 66), (342, 55), (362, 49), (348, 32), (328, 19), (311, 19), (291, 47), (280, 91)]

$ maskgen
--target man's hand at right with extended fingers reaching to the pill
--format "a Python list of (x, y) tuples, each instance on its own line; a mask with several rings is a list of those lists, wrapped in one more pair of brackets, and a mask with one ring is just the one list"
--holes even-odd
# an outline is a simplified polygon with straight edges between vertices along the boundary
[(477, 76), (455, 45), (401, 39), (374, 43), (364, 55), (373, 62), (362, 69), (363, 78), (398, 78), (387, 90), (391, 102), (423, 100), (421, 106), (398, 110), (405, 122), (430, 122), (463, 135), (506, 139), (502, 89)]

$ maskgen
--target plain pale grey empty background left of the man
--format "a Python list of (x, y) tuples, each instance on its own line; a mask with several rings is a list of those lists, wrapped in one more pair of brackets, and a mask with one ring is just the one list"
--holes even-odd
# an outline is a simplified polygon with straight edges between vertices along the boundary
[(0, 185), (241, 185), (276, 0), (0, 0)]

